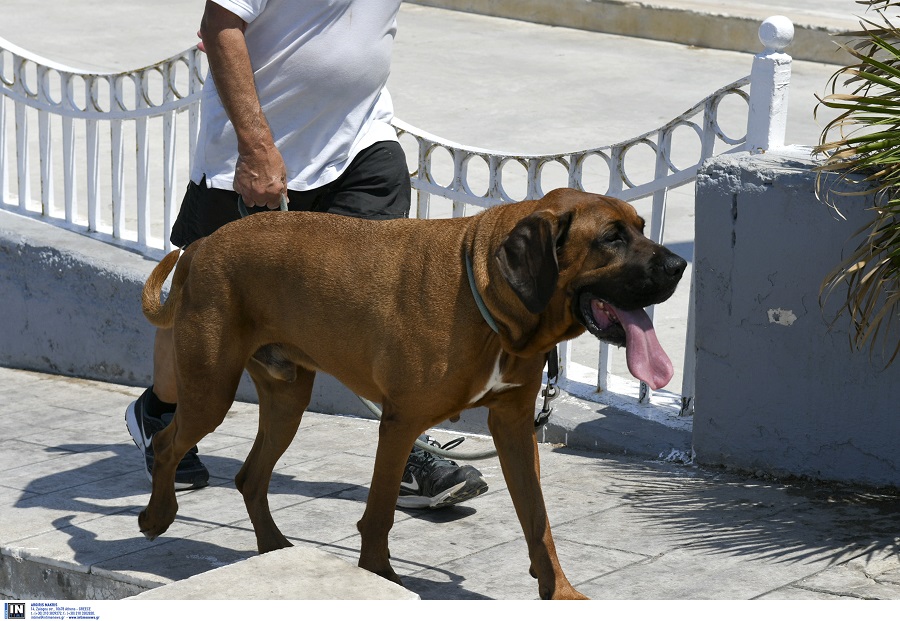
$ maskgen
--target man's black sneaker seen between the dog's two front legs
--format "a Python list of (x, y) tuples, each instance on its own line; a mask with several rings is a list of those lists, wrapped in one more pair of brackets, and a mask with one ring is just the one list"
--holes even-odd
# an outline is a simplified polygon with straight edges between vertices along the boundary
[[(447, 450), (458, 446), (465, 438), (456, 438), (441, 446), (434, 439), (424, 440)], [(413, 447), (400, 482), (397, 506), (405, 509), (438, 509), (475, 498), (487, 491), (487, 483), (473, 466), (459, 466), (455, 461), (438, 457)]]

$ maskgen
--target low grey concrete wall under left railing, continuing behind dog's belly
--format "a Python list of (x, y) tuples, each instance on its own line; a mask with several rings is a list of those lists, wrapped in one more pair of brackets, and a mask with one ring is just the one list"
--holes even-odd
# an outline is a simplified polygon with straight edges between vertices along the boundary
[[(155, 261), (0, 210), (0, 365), (132, 386), (152, 382), (154, 328), (141, 289)], [(256, 401), (245, 375), (241, 401)], [(330, 376), (312, 409), (369, 416)]]

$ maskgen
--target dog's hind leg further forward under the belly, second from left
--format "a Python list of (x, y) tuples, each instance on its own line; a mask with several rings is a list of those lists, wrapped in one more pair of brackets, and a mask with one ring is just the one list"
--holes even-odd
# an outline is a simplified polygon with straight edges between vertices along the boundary
[(292, 545), (278, 529), (269, 510), (269, 482), (275, 464), (290, 446), (304, 410), (312, 394), (313, 371), (296, 367), (294, 381), (278, 379), (284, 369), (273, 376), (271, 369), (251, 359), (248, 370), (259, 395), (259, 431), (253, 448), (235, 477), (235, 485), (244, 497), (244, 504), (260, 554)]

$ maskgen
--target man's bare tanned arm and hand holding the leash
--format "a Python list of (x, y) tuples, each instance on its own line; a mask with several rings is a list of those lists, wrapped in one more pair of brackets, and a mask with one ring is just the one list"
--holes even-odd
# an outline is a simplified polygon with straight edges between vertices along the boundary
[(203, 49), (216, 90), (238, 139), (234, 189), (250, 206), (279, 206), (287, 193), (287, 171), (259, 103), (250, 54), (244, 39), (246, 23), (207, 0), (200, 24)]

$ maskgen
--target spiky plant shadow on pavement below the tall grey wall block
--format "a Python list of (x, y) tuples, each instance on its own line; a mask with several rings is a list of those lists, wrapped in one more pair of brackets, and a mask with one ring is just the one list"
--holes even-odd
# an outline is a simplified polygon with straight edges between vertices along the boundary
[(664, 534), (685, 549), (830, 565), (900, 554), (896, 490), (779, 482), (697, 466), (603, 459), (615, 464), (608, 493), (620, 497), (629, 515), (648, 531)]

